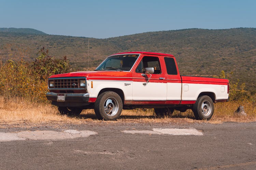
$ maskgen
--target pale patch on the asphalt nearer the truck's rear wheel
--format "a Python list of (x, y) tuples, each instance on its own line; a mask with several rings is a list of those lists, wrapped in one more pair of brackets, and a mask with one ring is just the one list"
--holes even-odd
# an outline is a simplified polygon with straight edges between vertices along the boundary
[(203, 135), (202, 132), (196, 129), (153, 129), (153, 131), (144, 130), (131, 130), (131, 131), (122, 131), (124, 133), (131, 133), (131, 134), (168, 134), (168, 135)]

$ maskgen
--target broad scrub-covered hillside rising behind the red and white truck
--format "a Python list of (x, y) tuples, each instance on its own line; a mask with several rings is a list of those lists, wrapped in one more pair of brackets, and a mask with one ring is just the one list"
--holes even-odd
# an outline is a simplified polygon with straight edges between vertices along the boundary
[[(246, 82), (246, 89), (256, 89), (256, 29), (223, 30), (184, 29), (96, 39), (59, 35), (20, 35), (0, 32), (2, 60), (37, 57), (40, 48), (61, 57), (67, 55), (73, 67), (97, 66), (106, 56), (124, 51), (152, 51), (173, 54), (183, 75), (218, 75), (221, 70), (233, 72), (233, 79)], [(11, 44), (11, 45), (10, 45)], [(21, 50), (22, 49), (22, 50)], [(10, 53), (12, 55), (10, 55)], [(24, 53), (24, 51), (23, 51)]]

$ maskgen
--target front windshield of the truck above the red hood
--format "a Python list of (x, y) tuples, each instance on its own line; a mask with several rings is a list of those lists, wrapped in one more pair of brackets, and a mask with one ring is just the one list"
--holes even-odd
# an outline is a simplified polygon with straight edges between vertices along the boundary
[(96, 70), (130, 71), (139, 54), (121, 54), (109, 56)]

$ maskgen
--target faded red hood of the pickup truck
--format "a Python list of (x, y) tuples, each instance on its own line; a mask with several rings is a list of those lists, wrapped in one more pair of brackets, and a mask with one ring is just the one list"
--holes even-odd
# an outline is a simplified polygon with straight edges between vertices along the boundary
[(55, 74), (49, 78), (63, 78), (63, 77), (86, 77), (87, 80), (104, 77), (126, 77), (131, 78), (132, 73), (127, 71), (77, 71), (63, 74)]

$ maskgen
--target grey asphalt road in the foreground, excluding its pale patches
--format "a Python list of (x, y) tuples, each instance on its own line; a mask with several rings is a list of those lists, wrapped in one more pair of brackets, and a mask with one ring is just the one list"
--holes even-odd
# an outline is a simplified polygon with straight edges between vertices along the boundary
[[(153, 128), (195, 128), (195, 135), (129, 134)], [(0, 169), (256, 169), (256, 122), (223, 124), (89, 123), (0, 132), (93, 131), (62, 140), (0, 142)]]

